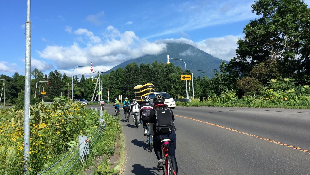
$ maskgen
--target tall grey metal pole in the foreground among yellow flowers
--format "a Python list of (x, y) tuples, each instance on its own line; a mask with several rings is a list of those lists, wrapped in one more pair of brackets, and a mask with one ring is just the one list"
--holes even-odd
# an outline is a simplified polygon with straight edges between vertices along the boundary
[(25, 89), (24, 89), (24, 174), (28, 172), (30, 152), (30, 77), (31, 77), (31, 21), (30, 0), (27, 0), (27, 20), (25, 21)]

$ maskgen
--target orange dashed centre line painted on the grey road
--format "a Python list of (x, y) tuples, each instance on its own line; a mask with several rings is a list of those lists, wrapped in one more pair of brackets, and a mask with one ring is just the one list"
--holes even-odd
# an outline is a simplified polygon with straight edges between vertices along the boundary
[(228, 128), (228, 127), (221, 126), (221, 125), (216, 125), (216, 124), (209, 123), (209, 122), (202, 121), (202, 120), (197, 120), (197, 119), (193, 119), (193, 118), (189, 118), (189, 117), (184, 117), (184, 116), (179, 116), (179, 115), (175, 115), (175, 116), (182, 117), (182, 118), (186, 118), (186, 119), (190, 119), (190, 120), (199, 121), (199, 122), (201, 122), (201, 123), (206, 123), (206, 124), (213, 125), (213, 126), (217, 126), (217, 127), (224, 128), (224, 129), (229, 129), (229, 130), (231, 130), (231, 131), (235, 131), (235, 132), (238, 132), (238, 133), (246, 134), (246, 135), (249, 135), (249, 136), (251, 136), (251, 137), (255, 137), (255, 138), (262, 139), (262, 140), (266, 140), (266, 141), (268, 141), (268, 142), (273, 142), (273, 143), (275, 143), (275, 144), (280, 144), (281, 146), (286, 146), (286, 147), (288, 147), (288, 148), (293, 148), (294, 150), (299, 150), (299, 151), (307, 152), (307, 153), (310, 154), (310, 151), (309, 151), (309, 150), (303, 150), (302, 148), (295, 147), (295, 146), (293, 146), (293, 145), (288, 145), (288, 144), (282, 143), (282, 142), (277, 142), (277, 141), (271, 140), (271, 139), (269, 139), (269, 138), (263, 138), (263, 137), (260, 137), (260, 136), (257, 136), (257, 135), (253, 135), (253, 134), (250, 134), (250, 133), (245, 133), (245, 132), (239, 131), (239, 130), (237, 130), (237, 129), (232, 129), (232, 128)]

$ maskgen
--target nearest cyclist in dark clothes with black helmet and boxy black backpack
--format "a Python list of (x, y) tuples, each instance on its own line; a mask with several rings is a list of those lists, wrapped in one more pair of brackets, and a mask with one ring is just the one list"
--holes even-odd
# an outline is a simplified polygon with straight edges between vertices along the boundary
[(150, 124), (150, 135), (153, 135), (154, 152), (158, 160), (158, 169), (162, 169), (164, 164), (161, 157), (161, 139), (170, 139), (168, 154), (171, 158), (172, 168), (178, 174), (178, 164), (175, 159), (176, 136), (174, 126), (174, 115), (168, 105), (164, 104), (165, 98), (157, 95), (153, 98), (154, 107), (148, 119)]

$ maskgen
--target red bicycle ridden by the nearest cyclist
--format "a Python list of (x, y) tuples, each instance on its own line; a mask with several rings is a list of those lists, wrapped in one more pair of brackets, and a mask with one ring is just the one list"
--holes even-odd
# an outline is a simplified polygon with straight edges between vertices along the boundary
[[(162, 137), (160, 136), (160, 139), (162, 140)], [(169, 150), (169, 142), (171, 142), (170, 139), (164, 139), (162, 140), (162, 162), (164, 164), (164, 168), (162, 169), (163, 175), (175, 175), (175, 172), (172, 168), (171, 158), (170, 155), (168, 155)]]

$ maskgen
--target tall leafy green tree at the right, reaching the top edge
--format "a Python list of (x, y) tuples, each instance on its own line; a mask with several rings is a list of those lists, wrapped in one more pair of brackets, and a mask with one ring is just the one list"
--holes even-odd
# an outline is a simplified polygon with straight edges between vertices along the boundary
[(304, 71), (308, 66), (304, 63), (308, 62), (310, 11), (303, 0), (257, 0), (252, 8), (261, 18), (244, 28), (237, 56), (229, 63), (231, 70), (247, 76), (257, 63), (277, 60), (283, 77)]

